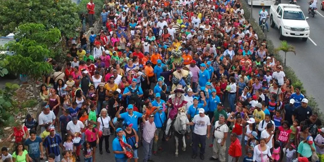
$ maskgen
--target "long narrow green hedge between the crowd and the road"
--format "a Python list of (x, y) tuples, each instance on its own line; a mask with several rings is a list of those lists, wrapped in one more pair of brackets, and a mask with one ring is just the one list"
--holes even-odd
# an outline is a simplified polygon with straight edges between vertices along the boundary
[[(246, 19), (249, 19), (250, 14), (251, 14), (250, 13), (251, 7), (245, 1), (243, 1), (243, 3), (241, 3), (241, 4), (243, 5), (242, 8), (244, 9), (244, 17), (246, 17)], [(264, 33), (262, 32), (262, 29), (260, 28), (260, 26), (256, 22), (256, 20), (254, 18), (251, 18), (251, 19), (249, 19), (249, 22), (251, 23), (253, 29), (258, 34), (258, 39), (259, 40), (263, 40), (263, 39), (267, 40), (269, 53), (273, 53), (274, 57), (283, 63), (283, 58), (281, 57), (281, 55), (278, 52), (275, 52), (275, 47), (274, 47), (272, 41), (264, 35)], [(278, 38), (278, 41), (279, 41), (279, 38)], [(301, 93), (303, 93), (305, 95), (305, 97), (308, 99), (308, 106), (311, 107), (314, 112), (318, 113), (319, 119), (321, 119), (322, 123), (324, 124), (324, 120), (323, 120), (324, 114), (322, 113), (322, 110), (320, 110), (320, 108), (318, 107), (318, 104), (317, 104), (317, 101), (315, 100), (315, 98), (313, 96), (307, 94), (306, 89), (303, 86), (303, 83), (298, 79), (298, 76), (295, 74), (294, 70), (289, 66), (284, 66), (284, 73), (287, 78), (290, 78), (292, 80), (292, 82), (293, 82), (292, 85), (294, 87), (297, 87), (297, 86), (301, 87)]]

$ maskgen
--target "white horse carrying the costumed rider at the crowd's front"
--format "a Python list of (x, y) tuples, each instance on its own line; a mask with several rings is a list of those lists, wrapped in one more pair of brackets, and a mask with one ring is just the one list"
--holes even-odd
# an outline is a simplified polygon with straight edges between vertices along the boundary
[(185, 134), (188, 132), (186, 123), (188, 123), (188, 117), (186, 114), (185, 107), (181, 107), (178, 110), (178, 115), (174, 121), (173, 128), (174, 128), (174, 138), (176, 140), (176, 157), (178, 157), (178, 146), (179, 146), (179, 138), (182, 138), (183, 147), (182, 151), (186, 151), (186, 140)]

